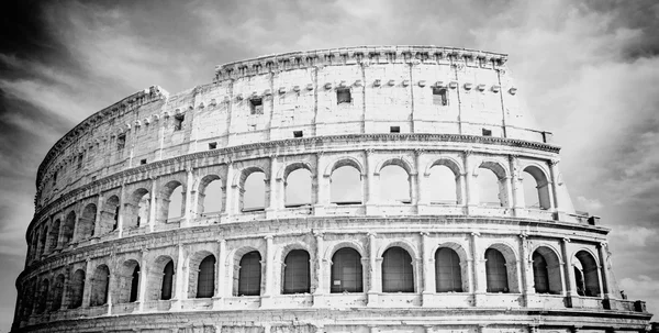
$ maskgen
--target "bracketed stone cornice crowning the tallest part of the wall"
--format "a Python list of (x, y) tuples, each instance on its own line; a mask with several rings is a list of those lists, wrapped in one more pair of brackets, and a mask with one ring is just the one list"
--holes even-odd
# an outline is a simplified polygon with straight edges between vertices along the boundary
[(268, 55), (215, 67), (214, 81), (288, 69), (359, 63), (437, 63), (467, 59), (503, 66), (507, 55), (439, 46), (355, 46)]

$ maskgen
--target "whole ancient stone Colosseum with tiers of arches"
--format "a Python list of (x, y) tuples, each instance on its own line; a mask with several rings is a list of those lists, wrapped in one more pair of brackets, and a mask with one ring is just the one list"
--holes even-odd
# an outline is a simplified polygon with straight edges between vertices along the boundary
[(645, 332), (505, 63), (288, 53), (92, 114), (38, 168), (12, 332)]

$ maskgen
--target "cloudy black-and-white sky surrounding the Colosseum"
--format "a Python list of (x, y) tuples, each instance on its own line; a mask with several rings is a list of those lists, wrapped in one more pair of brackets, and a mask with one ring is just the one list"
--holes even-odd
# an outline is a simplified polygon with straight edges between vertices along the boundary
[(510, 54), (578, 209), (613, 230), (621, 288), (659, 312), (659, 2), (1, 1), (0, 13), (0, 331), (36, 168), (78, 122), (152, 85), (208, 84), (217, 64), (378, 44)]

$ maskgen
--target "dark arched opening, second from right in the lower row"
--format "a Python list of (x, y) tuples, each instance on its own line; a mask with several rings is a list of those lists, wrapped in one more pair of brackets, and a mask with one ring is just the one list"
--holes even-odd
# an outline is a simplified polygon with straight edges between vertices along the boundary
[(537, 293), (558, 295), (562, 291), (560, 260), (549, 247), (540, 246), (533, 252), (533, 277)]

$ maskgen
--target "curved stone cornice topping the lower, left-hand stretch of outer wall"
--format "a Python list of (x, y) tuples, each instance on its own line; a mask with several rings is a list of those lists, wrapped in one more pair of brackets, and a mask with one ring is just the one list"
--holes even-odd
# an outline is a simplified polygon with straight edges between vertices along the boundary
[(87, 131), (92, 129), (96, 124), (104, 121), (109, 116), (113, 116), (121, 112), (129, 112), (130, 110), (163, 99), (167, 99), (169, 92), (158, 86), (152, 86), (147, 89), (137, 91), (121, 101), (102, 109), (99, 112), (93, 113), (86, 120), (76, 125), (72, 130), (68, 131), (62, 138), (59, 138), (53, 147), (46, 154), (46, 157), (38, 166), (36, 173), (36, 187), (42, 181), (45, 169), (49, 166), (51, 162), (57, 156), (63, 149), (68, 147), (72, 142), (76, 142)]

